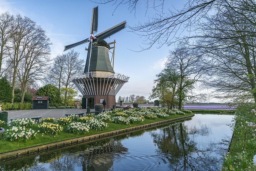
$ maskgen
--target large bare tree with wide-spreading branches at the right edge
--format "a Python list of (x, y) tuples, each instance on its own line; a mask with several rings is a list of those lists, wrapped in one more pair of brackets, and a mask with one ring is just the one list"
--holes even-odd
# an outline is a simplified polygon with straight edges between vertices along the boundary
[[(240, 11), (240, 15), (235, 15), (226, 7), (205, 17), (206, 22), (198, 28), (203, 34), (195, 39), (209, 66), (206, 85), (222, 98), (251, 92), (256, 86), (255, 79), (247, 76), (256, 74), (256, 39), (252, 34), (256, 25), (244, 22), (244, 12)], [(256, 101), (256, 94), (252, 95)]]

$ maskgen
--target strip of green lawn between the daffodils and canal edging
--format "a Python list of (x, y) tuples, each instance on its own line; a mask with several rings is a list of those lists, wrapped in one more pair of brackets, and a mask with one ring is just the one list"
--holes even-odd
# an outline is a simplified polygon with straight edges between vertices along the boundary
[[(99, 130), (93, 130), (90, 129), (88, 133), (82, 133), (82, 134), (73, 134), (73, 133), (68, 133), (65, 131), (66, 126), (64, 127), (64, 131), (61, 131), (58, 135), (52, 136), (52, 135), (44, 135), (41, 133), (38, 133), (35, 139), (29, 140), (28, 142), (14, 142), (14, 141), (9, 141), (9, 140), (0, 140), (0, 153), (6, 153), (10, 151), (16, 151), (19, 149), (24, 149), (24, 148), (29, 148), (29, 147), (34, 147), (38, 145), (45, 145), (49, 143), (54, 143), (54, 142), (59, 142), (63, 140), (69, 140), (72, 138), (78, 138), (78, 137), (83, 137), (87, 135), (94, 135), (98, 133), (103, 133), (103, 132), (108, 132), (108, 131), (114, 131), (114, 130), (119, 130), (119, 129), (124, 129), (127, 127), (132, 127), (132, 126), (137, 126), (137, 125), (142, 125), (142, 124), (147, 124), (147, 123), (152, 123), (152, 122), (157, 122), (157, 121), (163, 121), (167, 119), (174, 119), (177, 117), (182, 117), (182, 116), (188, 116), (190, 114), (185, 114), (185, 115), (169, 115), (166, 119), (161, 119), (161, 118), (156, 118), (154, 120), (150, 119), (145, 119), (142, 123), (140, 124), (116, 124), (116, 123), (108, 123), (108, 127), (106, 127), (104, 130), (99, 131)], [(114, 116), (114, 114), (112, 114)], [(38, 131), (39, 128), (38, 126), (32, 127), (33, 130)], [(1, 154), (0, 154), (1, 155)]]

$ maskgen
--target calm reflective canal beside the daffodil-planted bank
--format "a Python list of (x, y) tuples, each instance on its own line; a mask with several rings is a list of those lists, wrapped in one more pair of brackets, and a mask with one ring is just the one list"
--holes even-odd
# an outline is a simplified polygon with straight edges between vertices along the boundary
[[(0, 170), (221, 170), (232, 115), (191, 119), (0, 163)], [(167, 150), (169, 151), (167, 153)]]

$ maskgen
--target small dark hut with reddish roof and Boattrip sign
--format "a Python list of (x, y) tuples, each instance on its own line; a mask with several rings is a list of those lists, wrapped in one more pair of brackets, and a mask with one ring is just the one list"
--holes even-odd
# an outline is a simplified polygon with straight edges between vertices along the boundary
[(49, 109), (50, 96), (33, 96), (33, 108), (32, 109)]

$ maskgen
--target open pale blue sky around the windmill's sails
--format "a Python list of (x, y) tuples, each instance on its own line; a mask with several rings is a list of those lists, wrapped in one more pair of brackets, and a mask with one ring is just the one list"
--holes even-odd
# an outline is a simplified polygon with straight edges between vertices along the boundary
[[(172, 5), (176, 8), (182, 8), (183, 3), (186, 1), (181, 0), (176, 4), (174, 1), (164, 2), (165, 11), (167, 8), (172, 8)], [(144, 23), (148, 17), (153, 16), (156, 12), (154, 9), (148, 9), (145, 15), (146, 4), (144, 1), (137, 5), (134, 16), (134, 12), (130, 12), (126, 4), (121, 5), (114, 12), (116, 5), (96, 4), (88, 0), (0, 0), (0, 12), (9, 10), (14, 15), (18, 13), (22, 16), (26, 15), (45, 29), (47, 36), (53, 43), (51, 46), (51, 58), (54, 58), (58, 54), (68, 52), (63, 52), (65, 45), (90, 37), (92, 8), (98, 5), (98, 33), (124, 20), (130, 26), (134, 26), (138, 22)], [(168, 51), (172, 47), (164, 45), (157, 49), (156, 45), (150, 50), (134, 52), (140, 50), (140, 45), (144, 46), (141, 43), (143, 39), (127, 30), (128, 28), (125, 28), (109, 39), (105, 39), (107, 42), (116, 40), (114, 71), (130, 77), (129, 82), (125, 83), (116, 95), (116, 99), (119, 96), (130, 96), (131, 94), (145, 96), (147, 99), (154, 86), (155, 74), (161, 72), (164, 68)], [(88, 47), (88, 44), (74, 48), (75, 51), (80, 52), (80, 58), (84, 60), (87, 55), (87, 51), (84, 50), (85, 47)]]

